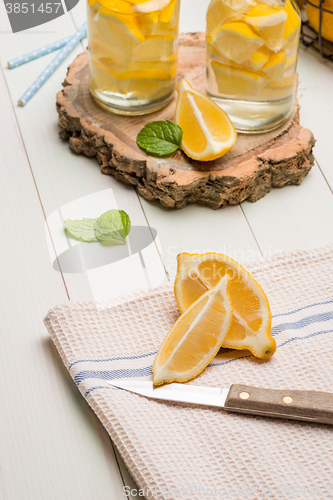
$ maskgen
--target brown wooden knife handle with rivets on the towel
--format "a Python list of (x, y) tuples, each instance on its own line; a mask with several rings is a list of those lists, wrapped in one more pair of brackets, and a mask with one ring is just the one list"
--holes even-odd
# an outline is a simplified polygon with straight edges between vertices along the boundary
[(333, 424), (333, 394), (317, 391), (260, 389), (233, 384), (225, 409), (266, 417)]

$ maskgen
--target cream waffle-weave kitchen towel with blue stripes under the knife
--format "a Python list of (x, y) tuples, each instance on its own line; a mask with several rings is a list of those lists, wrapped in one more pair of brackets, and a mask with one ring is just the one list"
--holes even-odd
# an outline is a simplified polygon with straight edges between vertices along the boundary
[[(246, 266), (272, 309), (277, 351), (222, 350), (190, 384), (333, 392), (333, 245)], [(157, 402), (108, 386), (152, 379), (179, 316), (172, 285), (67, 302), (45, 325), (147, 499), (333, 498), (333, 427)]]

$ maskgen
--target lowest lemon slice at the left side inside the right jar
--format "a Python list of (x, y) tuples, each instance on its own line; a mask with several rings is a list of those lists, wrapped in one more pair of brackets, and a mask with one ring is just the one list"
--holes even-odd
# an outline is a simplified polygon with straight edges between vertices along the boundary
[(222, 95), (242, 97), (257, 96), (268, 82), (265, 73), (236, 68), (212, 61), (218, 91)]

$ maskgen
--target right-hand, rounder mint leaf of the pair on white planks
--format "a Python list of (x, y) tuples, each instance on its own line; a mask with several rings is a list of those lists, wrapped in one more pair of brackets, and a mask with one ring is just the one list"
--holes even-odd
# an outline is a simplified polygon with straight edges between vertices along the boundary
[(131, 220), (124, 210), (109, 210), (95, 222), (95, 234), (99, 241), (125, 243), (131, 229)]

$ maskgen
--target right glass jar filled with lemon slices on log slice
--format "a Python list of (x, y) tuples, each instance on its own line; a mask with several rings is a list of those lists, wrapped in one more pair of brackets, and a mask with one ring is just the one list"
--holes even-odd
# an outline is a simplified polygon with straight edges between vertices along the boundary
[(300, 37), (293, 0), (212, 0), (207, 93), (243, 133), (274, 130), (292, 113)]

